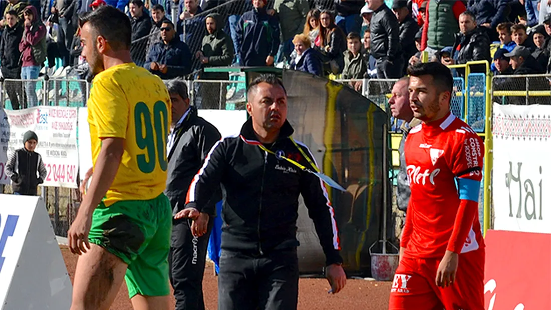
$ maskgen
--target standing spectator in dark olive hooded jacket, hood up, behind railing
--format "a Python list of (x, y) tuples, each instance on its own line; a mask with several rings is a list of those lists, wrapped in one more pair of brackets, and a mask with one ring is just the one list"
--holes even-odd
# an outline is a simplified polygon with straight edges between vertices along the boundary
[[(231, 37), (223, 30), (224, 20), (218, 13), (209, 14), (205, 19), (208, 34), (203, 37), (203, 44), (195, 57), (202, 64), (202, 68), (229, 67), (234, 59), (234, 45)], [(227, 72), (202, 72), (202, 80), (229, 80)], [(218, 109), (225, 106), (226, 84), (203, 84), (199, 88), (201, 102), (196, 105), (200, 108)], [(220, 101), (222, 99), (222, 102)]]

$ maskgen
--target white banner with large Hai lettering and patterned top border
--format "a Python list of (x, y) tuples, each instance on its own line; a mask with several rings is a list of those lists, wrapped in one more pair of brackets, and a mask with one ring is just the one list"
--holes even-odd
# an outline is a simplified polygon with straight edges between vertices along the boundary
[(551, 233), (551, 106), (494, 104), (493, 139), (494, 229)]

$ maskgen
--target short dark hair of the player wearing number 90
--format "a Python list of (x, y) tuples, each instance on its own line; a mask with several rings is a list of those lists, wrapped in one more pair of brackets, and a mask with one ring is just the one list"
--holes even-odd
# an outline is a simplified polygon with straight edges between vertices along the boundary
[(130, 48), (132, 40), (132, 26), (125, 13), (111, 6), (101, 6), (79, 17), (79, 26), (90, 23), (98, 36), (109, 41), (114, 50)]

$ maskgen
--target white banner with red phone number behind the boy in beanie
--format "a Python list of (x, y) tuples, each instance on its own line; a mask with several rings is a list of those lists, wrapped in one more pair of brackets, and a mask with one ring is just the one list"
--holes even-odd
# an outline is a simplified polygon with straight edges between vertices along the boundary
[(24, 110), (0, 110), (0, 184), (6, 176), (8, 154), (23, 147), (23, 135), (38, 136), (36, 152), (48, 171), (44, 186), (77, 188), (77, 108), (40, 106)]

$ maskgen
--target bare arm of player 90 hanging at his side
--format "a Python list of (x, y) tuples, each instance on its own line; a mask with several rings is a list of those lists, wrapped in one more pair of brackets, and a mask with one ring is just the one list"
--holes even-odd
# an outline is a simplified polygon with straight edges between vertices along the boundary
[(101, 150), (93, 173), (94, 177), (87, 194), (84, 195), (82, 204), (80, 204), (77, 217), (67, 232), (69, 248), (72, 253), (80, 255), (86, 253), (90, 248), (88, 233), (90, 232), (92, 213), (115, 180), (124, 153), (124, 141), (121, 138), (102, 139)]

